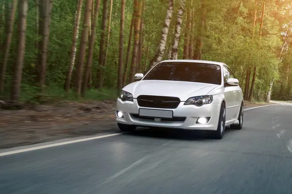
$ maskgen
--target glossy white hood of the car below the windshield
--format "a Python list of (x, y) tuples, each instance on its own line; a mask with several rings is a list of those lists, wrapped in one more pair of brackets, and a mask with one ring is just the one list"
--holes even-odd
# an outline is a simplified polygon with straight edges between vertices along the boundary
[(187, 81), (142, 80), (128, 84), (123, 90), (131, 93), (134, 98), (140, 95), (149, 95), (179, 97), (181, 101), (185, 101), (189, 97), (207, 95), (216, 87), (219, 85)]

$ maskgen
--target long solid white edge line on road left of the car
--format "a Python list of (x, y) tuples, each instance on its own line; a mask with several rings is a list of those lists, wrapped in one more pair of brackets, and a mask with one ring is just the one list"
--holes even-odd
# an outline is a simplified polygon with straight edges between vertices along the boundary
[(56, 144), (45, 145), (45, 146), (37, 146), (37, 147), (31, 147), (31, 148), (26, 148), (26, 149), (19, 149), (19, 150), (0, 153), (0, 156), (7, 156), (7, 155), (11, 155), (11, 154), (17, 154), (17, 153), (22, 153), (22, 152), (27, 152), (27, 151), (37, 150), (37, 149), (44, 149), (44, 148), (48, 148), (48, 147), (63, 146), (63, 145), (67, 145), (67, 144), (77, 143), (77, 142), (85, 142), (85, 141), (101, 139), (101, 138), (111, 137), (111, 136), (120, 135), (120, 134), (123, 134), (123, 133), (113, 133), (113, 134), (108, 134), (108, 135), (101, 135), (101, 136), (90, 137), (90, 138), (85, 138), (85, 139), (78, 139), (78, 140), (73, 140), (73, 141), (68, 141), (68, 142), (61, 142), (61, 143), (56, 143)]

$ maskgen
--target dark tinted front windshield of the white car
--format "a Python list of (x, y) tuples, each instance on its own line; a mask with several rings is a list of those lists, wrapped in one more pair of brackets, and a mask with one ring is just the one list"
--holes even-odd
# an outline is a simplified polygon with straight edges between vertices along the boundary
[(221, 68), (215, 64), (163, 62), (156, 65), (143, 80), (191, 81), (221, 84)]

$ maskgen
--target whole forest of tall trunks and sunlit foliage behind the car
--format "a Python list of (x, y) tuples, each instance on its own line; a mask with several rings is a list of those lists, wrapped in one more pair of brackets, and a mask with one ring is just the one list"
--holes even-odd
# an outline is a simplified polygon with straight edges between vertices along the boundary
[(230, 66), (246, 101), (292, 100), (292, 0), (1, 0), (0, 99), (116, 97), (165, 59)]

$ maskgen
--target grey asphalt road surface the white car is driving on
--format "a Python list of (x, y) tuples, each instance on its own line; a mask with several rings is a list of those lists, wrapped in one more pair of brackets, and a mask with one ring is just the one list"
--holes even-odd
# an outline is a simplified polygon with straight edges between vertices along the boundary
[(286, 105), (245, 111), (244, 128), (222, 140), (138, 130), (0, 157), (0, 194), (291, 193)]

